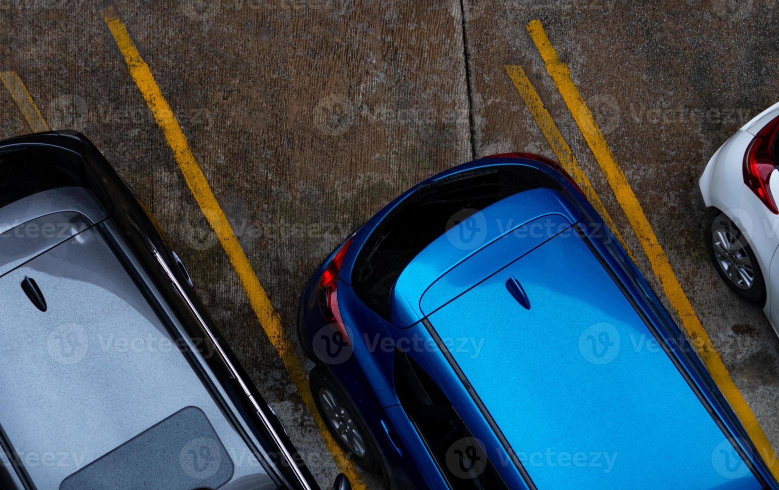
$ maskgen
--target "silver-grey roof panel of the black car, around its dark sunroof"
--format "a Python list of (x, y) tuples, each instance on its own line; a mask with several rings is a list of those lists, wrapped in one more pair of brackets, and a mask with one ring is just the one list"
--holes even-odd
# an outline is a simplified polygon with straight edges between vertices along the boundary
[[(33, 241), (24, 224), (21, 230), (7, 239)], [(203, 417), (182, 420), (205, 420), (217, 449), (246, 448), (179, 348), (178, 336), (166, 324), (173, 317), (146, 297), (109, 236), (106, 229), (86, 227), (0, 277), (6, 312), (0, 332), (0, 425), (37, 488), (58, 488), (69, 475), (186, 407), (196, 407)], [(25, 284), (34, 284), (43, 308)], [(192, 433), (208, 433), (204, 430)], [(123, 454), (157, 449), (133, 446)], [(251, 454), (247, 448), (245, 456)], [(59, 457), (63, 464), (29, 464), (24, 455)], [(219, 481), (182, 479), (182, 488), (217, 488), (233, 474), (258, 474), (263, 468), (255, 463), (233, 469), (229, 456), (224, 465), (214, 473)], [(92, 476), (99, 474), (91, 468)], [(166, 468), (177, 472), (182, 466)]]

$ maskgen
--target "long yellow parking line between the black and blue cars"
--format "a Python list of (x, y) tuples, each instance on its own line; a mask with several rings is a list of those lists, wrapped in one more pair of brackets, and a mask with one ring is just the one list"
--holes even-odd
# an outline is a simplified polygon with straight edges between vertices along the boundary
[(238, 237), (235, 236), (231, 224), (227, 221), (227, 216), (219, 206), (217, 198), (213, 195), (206, 180), (206, 175), (203, 174), (203, 170), (195, 160), (195, 155), (189, 147), (182, 127), (178, 124), (173, 111), (167, 104), (167, 100), (163, 97), (160, 87), (157, 86), (149, 65), (146, 65), (146, 62), (141, 58), (135, 44), (132, 43), (125, 25), (118, 18), (114, 7), (112, 5), (108, 6), (101, 13), (105, 23), (108, 24), (108, 29), (111, 30), (111, 34), (114, 36), (119, 51), (122, 51), (122, 55), (125, 57), (132, 79), (135, 80), (136, 85), (143, 94), (143, 98), (146, 100), (146, 104), (157, 121), (157, 125), (160, 126), (167, 144), (173, 150), (173, 157), (184, 174), (189, 190), (195, 196), (200, 209), (206, 215), (206, 220), (208, 220), (213, 231), (216, 232), (222, 247), (224, 247), (224, 251), (227, 252), (227, 257), (230, 259), (235, 272), (238, 273), (238, 278), (241, 280), (241, 285), (249, 297), (249, 302), (257, 319), (259, 319), (260, 325), (263, 326), (263, 330), (265, 330), (273, 347), (276, 347), (284, 367), (287, 368), (287, 373), (290, 375), (295, 387), (298, 389), (298, 393), (300, 393), (306, 407), (311, 411), (316, 424), (319, 426), (319, 431), (322, 432), (327, 449), (330, 450), (330, 453), (333, 453), (337, 466), (340, 468), (340, 471), (347, 474), (354, 488), (365, 488), (365, 484), (361, 481), (353, 464), (341, 452), (335, 439), (330, 435), (330, 432), (327, 432), (324, 421), (319, 417), (311, 392), (308, 390), (308, 376), (306, 375), (305, 368), (300, 358), (298, 358), (289, 337), (287, 337), (284, 327), (281, 325), (280, 316), (273, 308), (273, 305), (271, 305), (268, 294), (266, 294), (262, 284), (259, 283), (259, 279), (252, 269), (252, 264), (249, 263), (249, 258), (238, 242)]

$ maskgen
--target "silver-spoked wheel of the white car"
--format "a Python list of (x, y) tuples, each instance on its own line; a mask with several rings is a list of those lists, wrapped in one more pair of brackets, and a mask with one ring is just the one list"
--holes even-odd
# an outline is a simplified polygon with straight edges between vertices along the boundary
[(736, 294), (748, 301), (766, 301), (766, 282), (755, 252), (724, 213), (712, 213), (706, 227), (706, 245), (717, 273)]

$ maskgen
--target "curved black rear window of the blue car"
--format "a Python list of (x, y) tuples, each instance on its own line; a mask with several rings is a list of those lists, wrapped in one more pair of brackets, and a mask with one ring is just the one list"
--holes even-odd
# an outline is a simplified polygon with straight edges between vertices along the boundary
[(526, 165), (483, 167), (422, 185), (365, 241), (351, 277), (355, 293), (390, 320), (392, 287), (419, 252), (478, 210), (538, 188), (561, 189), (548, 174)]

